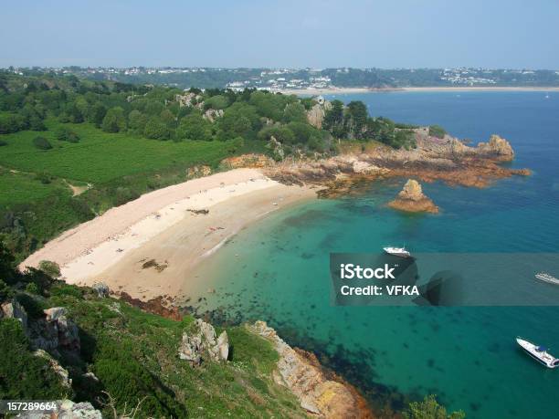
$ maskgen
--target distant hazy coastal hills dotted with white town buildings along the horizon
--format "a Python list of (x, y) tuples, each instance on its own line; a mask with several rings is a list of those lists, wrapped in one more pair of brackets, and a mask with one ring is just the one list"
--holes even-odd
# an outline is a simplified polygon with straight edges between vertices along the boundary
[(188, 89), (271, 91), (406, 87), (558, 87), (559, 70), (491, 68), (6, 68), (21, 75), (55, 73)]

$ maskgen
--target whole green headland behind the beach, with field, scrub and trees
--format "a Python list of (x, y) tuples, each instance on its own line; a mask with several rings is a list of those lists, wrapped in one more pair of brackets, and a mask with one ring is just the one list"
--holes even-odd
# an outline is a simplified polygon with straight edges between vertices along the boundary
[(0, 238), (18, 260), (141, 194), (220, 170), (245, 152), (319, 158), (345, 142), (414, 147), (411, 127), (334, 100), (255, 89), (181, 89), (0, 71)]

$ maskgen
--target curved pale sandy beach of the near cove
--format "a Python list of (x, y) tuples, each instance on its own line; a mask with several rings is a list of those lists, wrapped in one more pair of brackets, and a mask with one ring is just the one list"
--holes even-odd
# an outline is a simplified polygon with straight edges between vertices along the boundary
[(134, 298), (174, 297), (188, 286), (192, 268), (227, 238), (272, 211), (315, 195), (254, 169), (216, 173), (111, 208), (48, 242), (20, 269), (52, 260), (71, 284), (103, 281)]

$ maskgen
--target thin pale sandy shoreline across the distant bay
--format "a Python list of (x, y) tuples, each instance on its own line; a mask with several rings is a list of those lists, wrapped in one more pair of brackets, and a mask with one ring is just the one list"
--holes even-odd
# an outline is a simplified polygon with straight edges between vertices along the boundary
[(439, 86), (439, 87), (402, 87), (402, 88), (325, 88), (325, 89), (284, 89), (284, 95), (317, 96), (355, 93), (387, 93), (396, 91), (559, 91), (552, 87), (512, 87), (512, 86)]

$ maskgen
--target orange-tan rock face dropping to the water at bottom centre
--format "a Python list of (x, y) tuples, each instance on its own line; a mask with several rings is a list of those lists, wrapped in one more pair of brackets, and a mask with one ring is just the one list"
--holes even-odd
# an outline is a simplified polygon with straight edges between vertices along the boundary
[(310, 361), (302, 351), (291, 348), (264, 321), (248, 329), (268, 339), (280, 354), (276, 382), (287, 386), (311, 414), (327, 418), (372, 417), (366, 403), (348, 385), (326, 377), (318, 361)]

